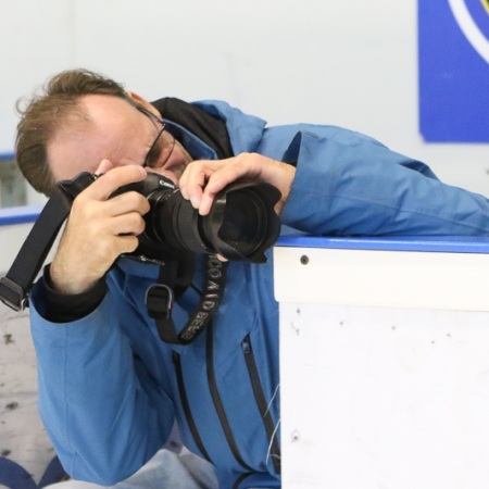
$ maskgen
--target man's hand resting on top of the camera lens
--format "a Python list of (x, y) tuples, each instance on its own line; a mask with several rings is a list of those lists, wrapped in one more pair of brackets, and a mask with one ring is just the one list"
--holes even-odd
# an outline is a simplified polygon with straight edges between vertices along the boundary
[(296, 168), (287, 163), (256, 153), (241, 153), (227, 160), (198, 160), (185, 170), (178, 185), (181, 195), (189, 199), (201, 215), (209, 214), (215, 196), (237, 180), (266, 181), (281, 193), (277, 213), (289, 197)]

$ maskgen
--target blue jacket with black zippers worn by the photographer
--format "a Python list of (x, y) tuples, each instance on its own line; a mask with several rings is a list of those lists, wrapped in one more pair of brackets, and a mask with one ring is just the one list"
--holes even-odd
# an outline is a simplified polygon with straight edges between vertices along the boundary
[[(441, 184), (423, 163), (368, 137), (334, 126), (268, 128), (224, 102), (198, 105), (226, 122), (236, 154), (297, 166), (284, 233), (489, 234), (486, 198)], [(193, 156), (215, 158), (174, 130)], [(38, 281), (30, 316), (40, 413), (73, 477), (102, 485), (128, 477), (164, 444), (176, 417), (185, 444), (215, 465), (221, 487), (280, 487), (278, 304), (267, 256), (264, 265), (229, 264), (212, 328), (185, 347), (163, 343), (147, 314), (155, 265), (121, 259), (102, 303), (70, 324), (43, 318)], [(201, 267), (175, 306), (177, 326), (199, 300)]]

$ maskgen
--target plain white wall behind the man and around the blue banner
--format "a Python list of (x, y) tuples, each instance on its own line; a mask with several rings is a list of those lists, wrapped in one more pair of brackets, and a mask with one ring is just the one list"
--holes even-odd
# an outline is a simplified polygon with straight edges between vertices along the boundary
[[(272, 124), (342, 125), (489, 196), (488, 145), (426, 145), (415, 0), (2, 0), (0, 152), (14, 103), (67, 67), (149, 99), (225, 99)], [(481, 90), (484, 87), (481, 87)]]

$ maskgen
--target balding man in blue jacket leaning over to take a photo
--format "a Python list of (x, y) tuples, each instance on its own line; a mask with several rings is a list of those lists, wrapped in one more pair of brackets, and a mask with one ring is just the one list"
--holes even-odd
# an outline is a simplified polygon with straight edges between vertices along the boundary
[[(222, 488), (280, 486), (278, 314), (273, 263), (231, 261), (213, 321), (192, 342), (165, 342), (145, 294), (164, 266), (120, 258), (137, 249), (149, 212), (147, 168), (205, 215), (239, 180), (281, 193), (286, 227), (314, 235), (489, 234), (489, 202), (440, 183), (423, 163), (333, 126), (266, 127), (224, 102), (153, 104), (85, 71), (54, 77), (18, 125), (30, 184), (101, 175), (74, 200), (52, 264), (30, 296), (39, 404), (65, 469), (111, 485), (145, 464), (174, 419)], [(215, 262), (218, 263), (218, 262)], [(218, 266), (218, 265), (217, 265)], [(173, 305), (176, 333), (202, 296), (204, 260)], [(177, 271), (177, 275), (179, 272)], [(312, 388), (321, 388), (314, 386)]]

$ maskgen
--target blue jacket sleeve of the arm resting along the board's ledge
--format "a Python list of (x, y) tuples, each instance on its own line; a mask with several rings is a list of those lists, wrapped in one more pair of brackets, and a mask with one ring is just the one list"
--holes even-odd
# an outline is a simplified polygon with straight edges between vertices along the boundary
[[(272, 137), (273, 139), (273, 137)], [(489, 202), (360, 134), (312, 126), (276, 159), (297, 164), (283, 223), (316, 236), (489, 234)]]

